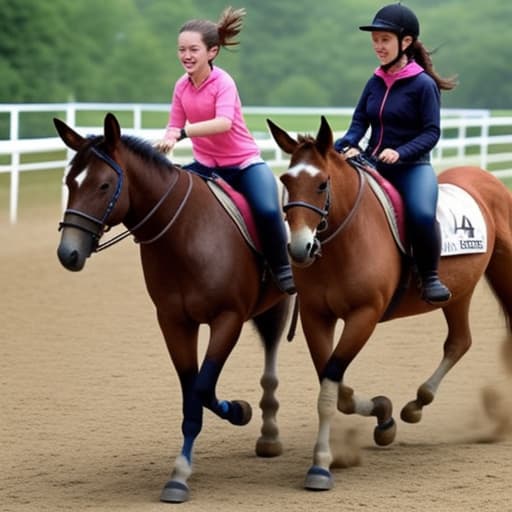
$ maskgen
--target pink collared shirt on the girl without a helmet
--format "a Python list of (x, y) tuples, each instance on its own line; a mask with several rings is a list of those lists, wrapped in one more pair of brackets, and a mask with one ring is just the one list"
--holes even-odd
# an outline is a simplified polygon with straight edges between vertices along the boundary
[(198, 88), (188, 75), (178, 79), (167, 126), (183, 128), (187, 121), (197, 123), (216, 117), (229, 119), (231, 129), (191, 137), (195, 160), (208, 167), (240, 168), (261, 161), (260, 149), (245, 124), (235, 81), (226, 71), (214, 66)]

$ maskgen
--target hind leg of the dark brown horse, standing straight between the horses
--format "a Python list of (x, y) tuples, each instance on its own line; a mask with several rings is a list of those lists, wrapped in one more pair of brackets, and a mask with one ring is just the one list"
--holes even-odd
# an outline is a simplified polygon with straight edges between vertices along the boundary
[(259, 457), (277, 457), (283, 452), (277, 423), (279, 410), (279, 401), (276, 398), (276, 389), (279, 385), (277, 353), (288, 318), (289, 303), (290, 300), (286, 297), (276, 306), (253, 318), (265, 349), (263, 375), (260, 379), (263, 389), (259, 403), (262, 417), (261, 436), (256, 441), (256, 455)]

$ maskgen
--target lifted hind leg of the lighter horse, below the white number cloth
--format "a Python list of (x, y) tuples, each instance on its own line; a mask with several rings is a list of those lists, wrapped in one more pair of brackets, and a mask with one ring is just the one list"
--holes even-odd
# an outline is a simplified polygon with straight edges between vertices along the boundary
[(443, 308), (448, 324), (448, 334), (443, 347), (443, 358), (434, 373), (421, 384), (416, 392), (416, 399), (408, 402), (402, 409), (400, 417), (407, 423), (418, 423), (422, 417), (423, 407), (433, 402), (441, 381), (471, 347), (471, 330), (469, 327), (469, 294), (456, 303)]

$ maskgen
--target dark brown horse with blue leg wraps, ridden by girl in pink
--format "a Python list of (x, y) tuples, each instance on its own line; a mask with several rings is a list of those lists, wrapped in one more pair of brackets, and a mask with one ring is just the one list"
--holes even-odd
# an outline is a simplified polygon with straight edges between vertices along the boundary
[[(274, 286), (261, 256), (201, 177), (172, 165), (149, 143), (121, 136), (112, 114), (105, 117), (104, 135), (88, 138), (54, 121), (64, 143), (77, 152), (66, 176), (69, 200), (61, 223), (60, 262), (69, 270), (81, 270), (92, 252), (133, 234), (180, 379), (183, 447), (161, 500), (182, 502), (189, 497), (187, 480), (204, 407), (234, 425), (245, 425), (251, 418), (247, 402), (220, 400), (215, 391), (242, 326), (251, 319), (265, 348), (263, 425), (256, 453), (279, 455), (276, 354), (288, 296)], [(106, 228), (120, 223), (127, 231), (100, 245)], [(210, 337), (199, 367), (201, 324), (209, 326)]]

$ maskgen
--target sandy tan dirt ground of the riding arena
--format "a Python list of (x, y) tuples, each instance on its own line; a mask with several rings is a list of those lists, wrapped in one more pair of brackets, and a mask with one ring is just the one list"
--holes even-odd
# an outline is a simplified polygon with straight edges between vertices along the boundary
[[(125, 240), (94, 255), (84, 271), (68, 272), (56, 257), (59, 216), (57, 209), (24, 212), (15, 226), (0, 218), (1, 511), (512, 510), (505, 322), (484, 283), (472, 307), (473, 347), (419, 424), (404, 424), (399, 412), (440, 360), (443, 317), (379, 326), (347, 383), (393, 400), (397, 439), (377, 448), (373, 419), (340, 414), (333, 449), (349, 467), (334, 470), (330, 492), (302, 487), (318, 385), (301, 332), (280, 351), (284, 454), (254, 455), (263, 351), (247, 326), (218, 394), (249, 401), (253, 419), (234, 427), (207, 412), (191, 500), (160, 503), (181, 447), (181, 395), (138, 249)], [(484, 415), (482, 396), (498, 423)]]

